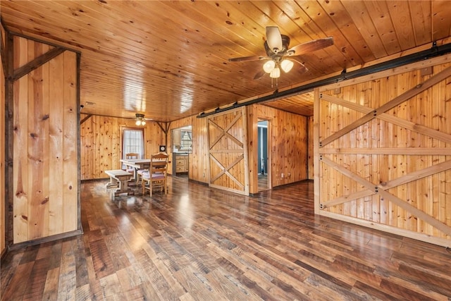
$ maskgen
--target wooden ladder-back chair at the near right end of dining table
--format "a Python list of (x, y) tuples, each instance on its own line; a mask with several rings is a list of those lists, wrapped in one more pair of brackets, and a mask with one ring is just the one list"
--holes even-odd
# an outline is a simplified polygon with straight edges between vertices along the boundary
[(146, 194), (146, 190), (149, 190), (150, 196), (155, 188), (160, 188), (168, 194), (168, 154), (158, 153), (150, 156), (149, 171), (142, 173), (142, 195)]

